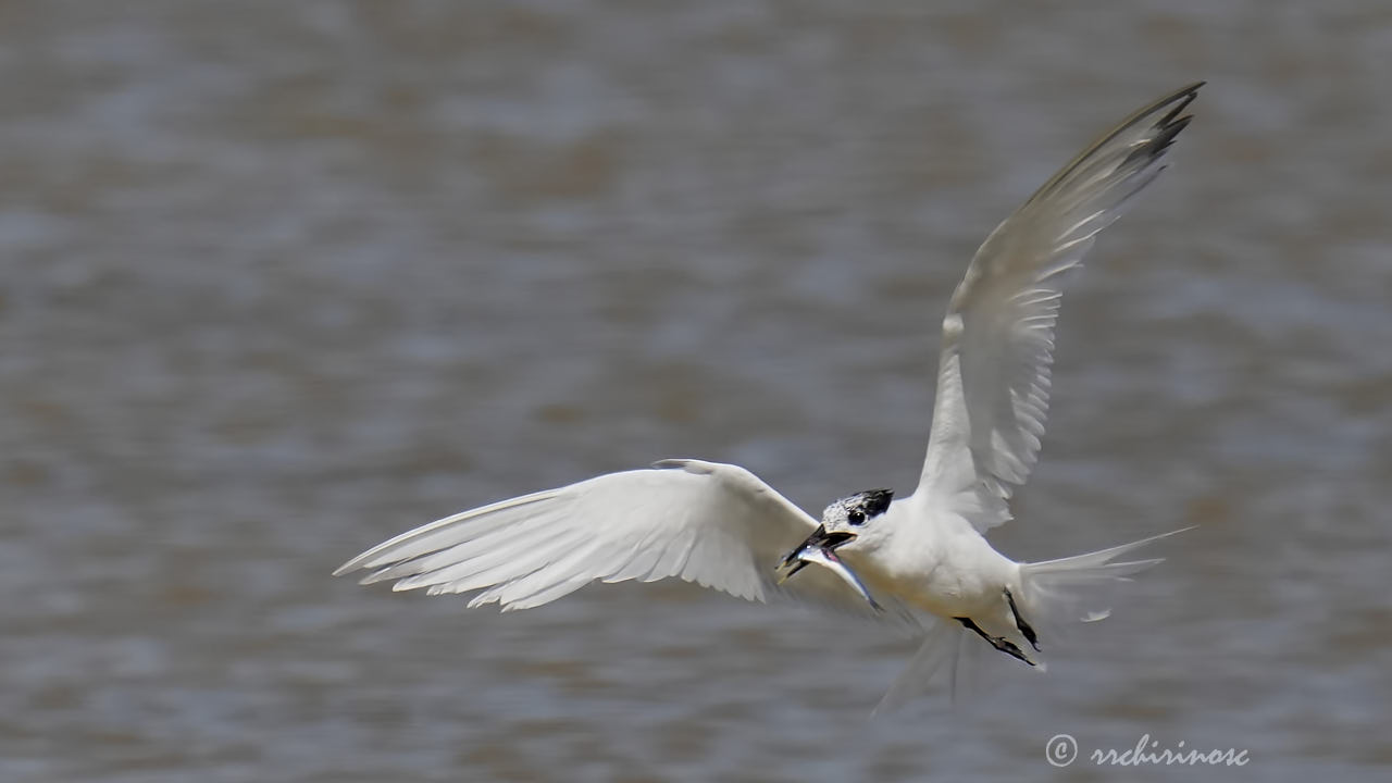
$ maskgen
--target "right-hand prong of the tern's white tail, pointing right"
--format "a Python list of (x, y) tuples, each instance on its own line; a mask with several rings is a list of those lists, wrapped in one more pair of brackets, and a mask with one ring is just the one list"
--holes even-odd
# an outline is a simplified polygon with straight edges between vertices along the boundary
[(1041, 639), (1066, 633), (1073, 623), (1096, 623), (1111, 614), (1112, 587), (1130, 581), (1133, 574), (1164, 561), (1164, 557), (1125, 559), (1126, 555), (1162, 538), (1193, 528), (1153, 535), (1111, 549), (1020, 563), (1020, 587), (1016, 596), (1020, 612), (1034, 624)]

